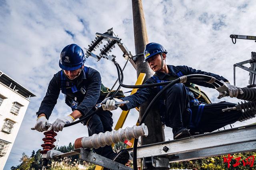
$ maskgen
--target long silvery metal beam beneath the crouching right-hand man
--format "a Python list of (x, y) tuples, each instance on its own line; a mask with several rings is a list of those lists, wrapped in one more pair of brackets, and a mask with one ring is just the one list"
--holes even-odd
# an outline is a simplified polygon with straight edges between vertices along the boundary
[[(132, 148), (127, 149), (132, 155)], [(256, 125), (139, 146), (137, 158), (168, 156), (170, 162), (256, 151)]]

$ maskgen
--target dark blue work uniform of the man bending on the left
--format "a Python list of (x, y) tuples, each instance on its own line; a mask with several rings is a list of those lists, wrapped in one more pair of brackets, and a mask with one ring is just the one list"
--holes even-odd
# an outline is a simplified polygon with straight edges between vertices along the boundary
[[(84, 67), (80, 75), (70, 80), (61, 70), (51, 79), (46, 95), (40, 105), (37, 115), (44, 113), (49, 119), (60, 90), (65, 95), (65, 103), (72, 108), (72, 111), (78, 110), (83, 117), (88, 117), (84, 125), (87, 123), (88, 134), (98, 134), (100, 132), (112, 131), (113, 119), (110, 111), (98, 111), (91, 115), (94, 111), (96, 103), (100, 102), (100, 73), (90, 67)], [(97, 154), (107, 158), (113, 158), (116, 154), (111, 146), (95, 149)]]

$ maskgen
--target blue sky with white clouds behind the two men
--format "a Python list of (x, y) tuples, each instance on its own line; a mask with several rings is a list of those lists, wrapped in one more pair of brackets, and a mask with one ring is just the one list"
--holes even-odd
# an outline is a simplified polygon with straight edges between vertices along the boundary
[[(70, 43), (88, 47), (95, 33), (114, 28), (123, 43), (135, 55), (130, 0), (94, 1), (14, 1), (0, 0), (0, 69), (30, 89), (37, 97), (31, 98), (30, 105), (20, 127), (5, 169), (19, 164), (22, 152), (31, 154), (41, 148), (43, 134), (30, 130), (36, 123), (35, 113), (46, 93), (48, 83), (60, 68), (60, 51)], [(255, 42), (238, 40), (234, 45), (230, 34), (255, 35), (256, 1), (172, 1), (144, 0), (144, 14), (150, 42), (159, 42), (168, 51), (167, 63), (188, 65), (196, 69), (223, 75), (233, 82), (233, 64), (250, 59)], [(121, 66), (125, 60), (116, 47), (113, 54), (118, 56)], [(113, 64), (106, 60), (96, 62), (88, 58), (86, 65), (100, 71), (102, 82), (108, 87), (116, 80)], [(248, 85), (248, 72), (237, 69), (237, 85)], [(124, 82), (134, 84), (136, 72), (128, 64), (124, 71)], [(217, 91), (203, 88), (213, 102), (219, 102)], [(126, 91), (127, 89), (124, 89)], [(128, 91), (128, 90), (127, 90)], [(237, 99), (225, 99), (238, 102)], [(70, 113), (60, 95), (50, 122)], [(113, 112), (116, 123), (121, 110)], [(138, 114), (131, 111), (124, 127), (136, 123)], [(237, 123), (247, 125), (254, 120)], [(171, 138), (166, 128), (166, 138)], [(74, 142), (87, 136), (87, 128), (81, 124), (64, 128), (58, 133), (59, 144)]]

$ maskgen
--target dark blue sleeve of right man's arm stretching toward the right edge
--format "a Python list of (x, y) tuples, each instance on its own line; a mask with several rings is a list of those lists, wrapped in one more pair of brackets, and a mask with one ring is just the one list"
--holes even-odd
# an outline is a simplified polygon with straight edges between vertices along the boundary
[[(227, 82), (228, 80), (225, 79), (224, 77), (220, 76), (220, 75), (217, 75), (217, 74), (214, 74), (214, 73), (210, 73), (210, 72), (206, 72), (206, 71), (201, 71), (201, 70), (196, 70), (196, 69), (193, 69), (191, 67), (188, 67), (186, 65), (182, 65), (182, 66), (178, 66), (179, 69), (181, 69), (182, 73), (184, 75), (191, 75), (191, 74), (204, 74), (204, 75), (209, 75), (209, 76), (212, 76), (214, 78), (216, 78), (217, 80), (223, 80), (224, 82)], [(195, 82), (195, 84), (197, 85), (201, 85), (201, 86), (204, 86), (204, 87), (210, 87), (210, 88), (215, 88), (212, 84), (210, 83), (206, 83), (206, 82)]]

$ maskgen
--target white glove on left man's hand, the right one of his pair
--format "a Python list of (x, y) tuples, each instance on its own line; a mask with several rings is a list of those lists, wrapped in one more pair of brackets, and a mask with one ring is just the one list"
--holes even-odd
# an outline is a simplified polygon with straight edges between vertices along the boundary
[(54, 121), (54, 123), (52, 123), (52, 125), (48, 128), (48, 131), (52, 129), (54, 129), (55, 132), (62, 131), (63, 127), (66, 124), (69, 124), (72, 122), (74, 122), (74, 118), (70, 115), (66, 117), (57, 118), (56, 121)]

